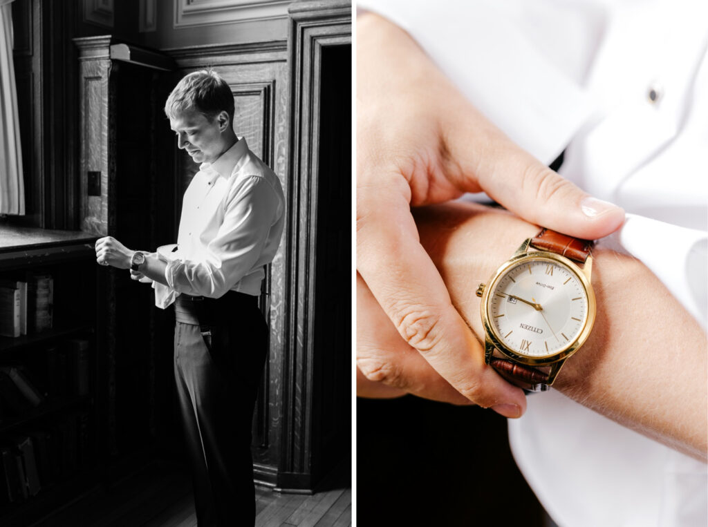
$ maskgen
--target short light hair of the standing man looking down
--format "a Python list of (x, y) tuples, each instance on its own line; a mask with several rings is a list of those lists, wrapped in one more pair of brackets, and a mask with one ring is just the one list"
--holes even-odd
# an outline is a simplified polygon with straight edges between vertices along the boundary
[(197, 110), (210, 121), (225, 111), (233, 126), (234, 94), (222, 76), (213, 69), (193, 71), (173, 88), (165, 103), (165, 115), (174, 119), (190, 109)]

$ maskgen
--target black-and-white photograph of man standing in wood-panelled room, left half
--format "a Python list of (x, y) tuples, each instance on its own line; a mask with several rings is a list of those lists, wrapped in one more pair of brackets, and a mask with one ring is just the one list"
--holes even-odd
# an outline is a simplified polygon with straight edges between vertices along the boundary
[(0, 27), (0, 525), (351, 525), (351, 2)]

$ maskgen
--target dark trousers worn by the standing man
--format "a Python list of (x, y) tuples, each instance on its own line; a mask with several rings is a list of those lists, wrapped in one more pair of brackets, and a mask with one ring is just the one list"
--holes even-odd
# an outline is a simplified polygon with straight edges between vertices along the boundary
[(175, 380), (199, 527), (256, 519), (251, 422), (268, 328), (255, 297), (241, 296), (219, 311), (223, 320), (212, 320), (206, 342), (199, 325), (175, 328)]

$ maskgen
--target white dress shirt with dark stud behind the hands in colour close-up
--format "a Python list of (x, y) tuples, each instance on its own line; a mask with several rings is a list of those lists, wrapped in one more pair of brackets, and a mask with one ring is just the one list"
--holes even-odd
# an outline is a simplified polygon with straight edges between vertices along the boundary
[[(639, 258), (706, 327), (708, 2), (358, 4), (407, 30), (539, 160), (565, 150), (565, 178), (629, 213), (600, 243)], [(555, 390), (527, 402), (510, 444), (561, 527), (708, 525), (704, 463)]]

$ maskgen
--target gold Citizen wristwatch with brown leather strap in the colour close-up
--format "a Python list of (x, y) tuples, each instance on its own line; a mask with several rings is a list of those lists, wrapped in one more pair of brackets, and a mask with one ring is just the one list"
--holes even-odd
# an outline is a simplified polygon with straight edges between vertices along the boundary
[(484, 361), (510, 383), (548, 390), (588, 339), (596, 309), (592, 245), (544, 228), (479, 284)]

